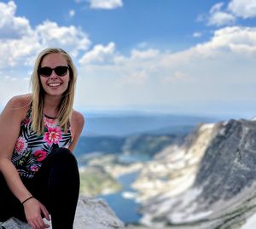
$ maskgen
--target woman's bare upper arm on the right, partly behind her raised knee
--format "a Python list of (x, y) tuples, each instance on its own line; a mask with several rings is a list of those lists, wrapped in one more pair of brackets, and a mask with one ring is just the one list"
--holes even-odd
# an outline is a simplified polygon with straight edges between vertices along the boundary
[(73, 152), (75, 146), (78, 143), (82, 129), (84, 128), (84, 117), (81, 113), (73, 111), (73, 115), (71, 118), (71, 128), (73, 133), (73, 141), (68, 148), (70, 151)]

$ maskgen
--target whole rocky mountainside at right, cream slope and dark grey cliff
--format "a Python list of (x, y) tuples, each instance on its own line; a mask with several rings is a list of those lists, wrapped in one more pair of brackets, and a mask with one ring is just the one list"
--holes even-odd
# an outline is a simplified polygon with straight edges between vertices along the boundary
[[(154, 192), (143, 191), (146, 184)], [(256, 122), (201, 125), (183, 146), (148, 163), (134, 187), (145, 225), (255, 228)]]

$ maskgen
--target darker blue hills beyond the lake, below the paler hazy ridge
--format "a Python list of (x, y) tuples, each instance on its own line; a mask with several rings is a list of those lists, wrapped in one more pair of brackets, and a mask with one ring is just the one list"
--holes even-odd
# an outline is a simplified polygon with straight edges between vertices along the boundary
[(183, 139), (184, 135), (81, 136), (74, 153), (77, 157), (98, 152), (151, 158), (170, 144), (182, 143)]

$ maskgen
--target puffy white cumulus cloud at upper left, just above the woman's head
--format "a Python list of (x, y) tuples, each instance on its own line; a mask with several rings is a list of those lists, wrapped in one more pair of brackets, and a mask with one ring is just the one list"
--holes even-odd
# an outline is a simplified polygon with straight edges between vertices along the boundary
[(35, 56), (46, 47), (65, 47), (76, 56), (90, 46), (88, 36), (75, 26), (59, 26), (44, 21), (32, 29), (29, 20), (15, 15), (15, 2), (0, 3), (0, 69), (32, 65)]

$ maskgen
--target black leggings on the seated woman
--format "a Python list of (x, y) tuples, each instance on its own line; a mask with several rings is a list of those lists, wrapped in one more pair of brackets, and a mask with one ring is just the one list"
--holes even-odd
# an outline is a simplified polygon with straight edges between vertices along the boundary
[[(66, 148), (55, 149), (33, 178), (24, 185), (48, 209), (53, 229), (71, 229), (79, 198), (79, 169), (76, 158)], [(9, 217), (26, 221), (23, 205), (10, 192), (0, 173), (0, 221)]]

